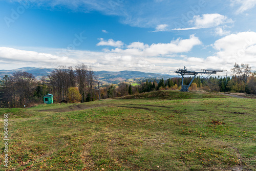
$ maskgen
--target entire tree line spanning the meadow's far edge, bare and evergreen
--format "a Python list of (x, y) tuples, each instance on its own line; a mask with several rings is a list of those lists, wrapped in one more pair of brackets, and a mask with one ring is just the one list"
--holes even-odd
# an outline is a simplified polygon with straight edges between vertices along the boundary
[[(251, 72), (247, 64), (235, 63), (231, 77), (212, 77), (205, 79), (196, 77), (189, 90), (205, 90), (209, 92), (239, 92), (256, 94), (256, 72)], [(27, 72), (14, 72), (12, 76), (4, 76), (0, 80), (0, 107), (18, 108), (33, 103), (42, 103), (42, 97), (53, 94), (54, 102), (87, 102), (99, 99), (97, 83), (91, 67), (81, 63), (72, 67), (59, 66), (48, 77), (36, 80)], [(192, 77), (184, 77), (188, 85)], [(180, 90), (181, 78), (167, 80), (146, 79), (139, 86), (121, 82), (100, 88), (100, 98), (114, 98), (159, 90)]]

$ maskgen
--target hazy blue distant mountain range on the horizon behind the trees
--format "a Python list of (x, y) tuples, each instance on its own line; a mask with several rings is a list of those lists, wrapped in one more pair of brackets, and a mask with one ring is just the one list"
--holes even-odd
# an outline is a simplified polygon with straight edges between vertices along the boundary
[[(12, 75), (16, 71), (26, 71), (28, 73), (33, 74), (36, 78), (40, 78), (42, 76), (48, 76), (54, 69), (48, 68), (32, 68), (32, 67), (24, 67), (18, 68), (15, 70), (0, 70), (0, 78), (3, 78), (5, 75)], [(133, 79), (134, 82), (139, 80), (153, 78), (153, 79), (168, 79), (172, 77), (176, 77), (177, 75), (167, 75), (167, 74), (155, 74), (155, 73), (144, 73), (140, 71), (119, 71), (119, 72), (111, 72), (111, 71), (95, 71), (95, 75), (98, 77), (99, 81), (102, 83), (118, 83), (121, 81), (130, 82)]]

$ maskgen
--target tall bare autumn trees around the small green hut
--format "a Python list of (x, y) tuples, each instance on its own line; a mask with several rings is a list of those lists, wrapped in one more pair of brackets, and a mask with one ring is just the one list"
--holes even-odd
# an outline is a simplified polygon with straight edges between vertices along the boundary
[(93, 69), (84, 63), (72, 67), (59, 66), (48, 77), (36, 80), (33, 74), (17, 71), (0, 80), (0, 106), (20, 108), (42, 102), (51, 93), (55, 102), (92, 101), (96, 84)]

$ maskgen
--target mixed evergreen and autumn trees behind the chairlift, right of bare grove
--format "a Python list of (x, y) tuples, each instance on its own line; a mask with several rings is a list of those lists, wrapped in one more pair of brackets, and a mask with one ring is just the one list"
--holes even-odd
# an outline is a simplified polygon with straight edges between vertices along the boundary
[[(231, 69), (232, 75), (227, 77), (212, 77), (205, 79), (198, 76), (194, 79), (189, 90), (204, 90), (208, 92), (238, 92), (256, 94), (256, 72), (251, 72), (248, 64), (238, 65), (235, 63)], [(193, 77), (184, 77), (183, 84), (188, 85)], [(118, 86), (110, 85), (101, 91), (103, 98), (120, 97), (131, 94), (145, 93), (158, 90), (180, 90), (182, 79), (180, 77), (167, 80), (153, 78), (140, 82), (139, 86), (120, 83)]]

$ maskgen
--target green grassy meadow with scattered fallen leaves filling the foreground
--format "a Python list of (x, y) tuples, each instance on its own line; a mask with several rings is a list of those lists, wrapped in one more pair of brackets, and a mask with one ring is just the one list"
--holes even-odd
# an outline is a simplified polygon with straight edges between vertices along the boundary
[[(256, 99), (159, 91), (9, 113), (0, 170), (256, 170)], [(2, 141), (3, 142), (3, 141)]]

